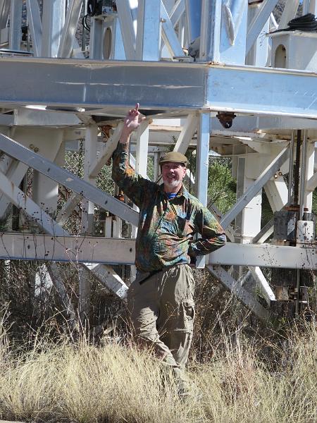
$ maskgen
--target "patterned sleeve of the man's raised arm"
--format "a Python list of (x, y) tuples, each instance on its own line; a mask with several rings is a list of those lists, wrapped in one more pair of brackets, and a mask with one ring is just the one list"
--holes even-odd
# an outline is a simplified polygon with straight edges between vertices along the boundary
[(129, 164), (129, 153), (126, 146), (118, 143), (113, 152), (112, 178), (132, 202), (138, 207), (142, 204), (145, 192), (149, 189), (151, 181), (137, 175)]

